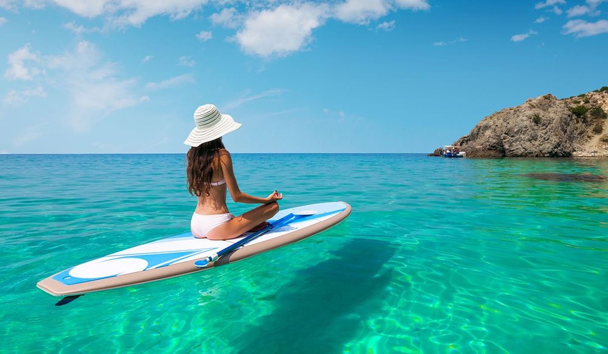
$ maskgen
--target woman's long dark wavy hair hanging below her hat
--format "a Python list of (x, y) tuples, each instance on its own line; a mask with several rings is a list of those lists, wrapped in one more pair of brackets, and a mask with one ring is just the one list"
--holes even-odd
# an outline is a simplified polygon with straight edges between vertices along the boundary
[(203, 193), (209, 196), (213, 172), (219, 168), (220, 149), (224, 149), (221, 137), (188, 150), (186, 154), (188, 191), (193, 196), (200, 197)]

